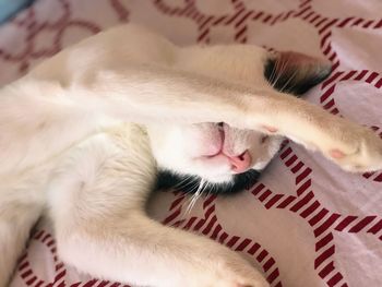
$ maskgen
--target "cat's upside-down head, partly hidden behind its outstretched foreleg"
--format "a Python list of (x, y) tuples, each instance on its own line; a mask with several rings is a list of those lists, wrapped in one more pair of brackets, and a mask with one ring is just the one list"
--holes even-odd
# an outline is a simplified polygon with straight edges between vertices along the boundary
[[(255, 84), (263, 88), (300, 96), (331, 71), (326, 62), (300, 53), (262, 52), (267, 58), (252, 59), (253, 65), (244, 72), (248, 79), (256, 77)], [(216, 68), (213, 60), (211, 63), (204, 61), (201, 72), (241, 83), (246, 80), (242, 71), (236, 73), (234, 69), (222, 75), (222, 67)], [(284, 140), (258, 131), (238, 130), (223, 122), (152, 124), (148, 135), (159, 167), (159, 188), (178, 187), (187, 192), (203, 189), (213, 193), (236, 192), (253, 184)]]

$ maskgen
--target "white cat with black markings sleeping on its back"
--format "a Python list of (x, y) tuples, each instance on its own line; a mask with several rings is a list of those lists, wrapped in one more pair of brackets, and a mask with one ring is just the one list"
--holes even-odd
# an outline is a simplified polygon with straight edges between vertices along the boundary
[(148, 218), (145, 203), (158, 170), (232, 190), (242, 183), (239, 175), (270, 162), (280, 136), (346, 170), (382, 168), (382, 141), (372, 131), (288, 94), (303, 93), (327, 72), (299, 53), (179, 48), (124, 25), (3, 87), (0, 286), (45, 208), (60, 258), (96, 277), (140, 286), (267, 286), (226, 247)]

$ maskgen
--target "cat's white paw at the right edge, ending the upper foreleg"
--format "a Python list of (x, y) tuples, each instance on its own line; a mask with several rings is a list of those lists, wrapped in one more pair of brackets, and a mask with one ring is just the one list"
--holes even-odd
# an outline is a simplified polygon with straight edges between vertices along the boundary
[(323, 153), (343, 169), (353, 172), (382, 169), (382, 139), (370, 129), (349, 123), (331, 140)]

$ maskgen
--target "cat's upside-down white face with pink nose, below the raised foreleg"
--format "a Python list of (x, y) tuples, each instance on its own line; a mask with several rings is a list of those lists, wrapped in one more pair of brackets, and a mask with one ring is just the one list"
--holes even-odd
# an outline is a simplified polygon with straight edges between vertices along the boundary
[(152, 125), (148, 132), (159, 167), (212, 183), (229, 183), (235, 175), (262, 170), (282, 142), (280, 136), (238, 130), (226, 123)]

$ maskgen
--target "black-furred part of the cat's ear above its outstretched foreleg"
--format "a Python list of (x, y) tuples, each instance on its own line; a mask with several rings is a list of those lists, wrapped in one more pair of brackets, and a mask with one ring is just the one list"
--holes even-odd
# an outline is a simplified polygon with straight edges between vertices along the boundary
[[(282, 74), (274, 75), (276, 69), (277, 59), (268, 59), (264, 67), (264, 77), (270, 84), (274, 84), (274, 88), (278, 92), (293, 94), (295, 96), (301, 96), (307, 93), (311, 87), (320, 84), (331, 73), (332, 68), (330, 65), (318, 69), (314, 72), (307, 73), (305, 75), (296, 76), (294, 69), (286, 69)], [(296, 67), (296, 69), (299, 69)], [(301, 68), (303, 69), (303, 68)], [(290, 77), (296, 77), (296, 81)], [(273, 77), (273, 79), (271, 79)], [(273, 83), (277, 79), (276, 83)]]

